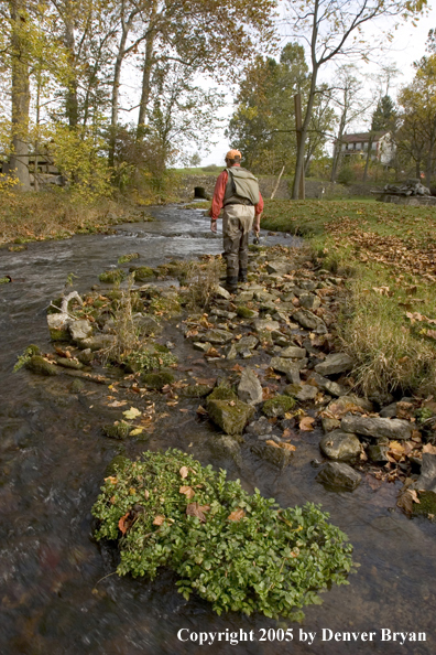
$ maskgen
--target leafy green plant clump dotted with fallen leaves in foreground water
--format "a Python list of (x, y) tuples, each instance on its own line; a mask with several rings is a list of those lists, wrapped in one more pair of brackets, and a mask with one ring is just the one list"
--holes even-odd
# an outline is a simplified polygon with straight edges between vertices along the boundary
[(347, 536), (307, 503), (281, 509), (250, 495), (226, 471), (201, 466), (178, 450), (146, 452), (105, 480), (92, 514), (97, 539), (119, 539), (120, 576), (178, 576), (178, 591), (241, 611), (301, 618), (327, 584), (347, 584)]

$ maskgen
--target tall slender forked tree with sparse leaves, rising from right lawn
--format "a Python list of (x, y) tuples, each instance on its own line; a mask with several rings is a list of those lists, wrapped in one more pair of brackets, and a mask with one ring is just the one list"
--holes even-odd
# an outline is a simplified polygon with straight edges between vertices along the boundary
[[(427, 0), (302, 0), (288, 2), (288, 22), (294, 36), (298, 35), (310, 49), (312, 78), (297, 152), (293, 197), (298, 197), (299, 179), (304, 167), (304, 149), (315, 104), (319, 69), (338, 56), (368, 57), (370, 46), (362, 39), (368, 23), (390, 19), (394, 29), (400, 19), (416, 18)], [(372, 47), (375, 43), (372, 39)]]

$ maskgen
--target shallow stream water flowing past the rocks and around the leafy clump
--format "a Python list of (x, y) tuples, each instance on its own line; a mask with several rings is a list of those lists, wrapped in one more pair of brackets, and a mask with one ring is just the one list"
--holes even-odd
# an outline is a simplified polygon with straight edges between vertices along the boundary
[[(334, 587), (323, 594), (321, 605), (307, 608), (301, 625), (279, 625), (259, 615), (219, 618), (200, 599), (185, 601), (170, 572), (152, 583), (110, 575), (113, 552), (94, 541), (90, 508), (110, 460), (121, 450), (134, 457), (144, 444), (132, 440), (123, 447), (101, 434), (101, 425), (119, 416), (99, 402), (106, 387), (88, 384), (74, 394), (68, 379), (23, 369), (13, 374), (12, 367), (29, 343), (50, 350), (45, 308), (59, 296), (68, 273), (77, 276), (75, 288), (84, 292), (127, 253), (138, 251), (141, 264), (155, 266), (221, 250), (221, 239), (207, 232), (199, 212), (173, 206), (153, 213), (155, 223), (120, 226), (110, 236), (1, 251), (0, 277), (13, 279), (0, 287), (1, 655), (434, 654), (436, 526), (395, 509), (394, 485), (372, 488), (366, 482), (353, 493), (334, 493), (316, 483), (317, 470), (310, 465), (320, 457), (316, 431), (297, 444), (284, 472), (249, 452), (240, 469), (214, 452), (211, 429), (196, 420), (196, 405), (186, 420), (168, 417), (159, 425), (146, 444), (189, 449), (203, 463), (227, 468), (249, 491), (259, 487), (283, 506), (321, 503), (330, 513), (361, 566), (348, 587)], [(291, 245), (291, 238), (263, 239)], [(192, 356), (175, 329), (172, 340), (179, 357)], [(280, 627), (292, 627), (293, 641), (281, 641)], [(382, 629), (426, 633), (427, 641), (381, 641)], [(375, 633), (371, 641), (333, 636), (370, 631)], [(194, 641), (198, 633), (217, 632), (220, 642)], [(309, 632), (316, 633), (310, 645)], [(230, 643), (231, 633), (233, 641), (241, 640), (238, 644)]]

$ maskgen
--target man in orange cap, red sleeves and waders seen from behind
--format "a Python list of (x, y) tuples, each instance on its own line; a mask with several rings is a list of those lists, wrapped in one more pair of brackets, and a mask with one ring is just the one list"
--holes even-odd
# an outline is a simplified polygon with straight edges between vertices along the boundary
[(224, 257), (227, 262), (227, 289), (238, 290), (238, 281), (247, 282), (248, 240), (250, 229), (260, 229), (263, 200), (257, 178), (240, 164), (239, 150), (226, 154), (226, 168), (215, 185), (209, 210), (210, 229), (217, 232), (217, 219), (222, 212)]

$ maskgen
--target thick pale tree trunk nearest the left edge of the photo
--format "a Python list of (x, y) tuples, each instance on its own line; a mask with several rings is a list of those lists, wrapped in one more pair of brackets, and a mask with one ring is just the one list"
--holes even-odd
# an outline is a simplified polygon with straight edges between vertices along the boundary
[(22, 0), (11, 0), (12, 19), (11, 54), (12, 54), (12, 154), (10, 172), (19, 180), (21, 189), (30, 190), (29, 174), (29, 106), (30, 79), (29, 61), (24, 34), (22, 33), (24, 18)]

